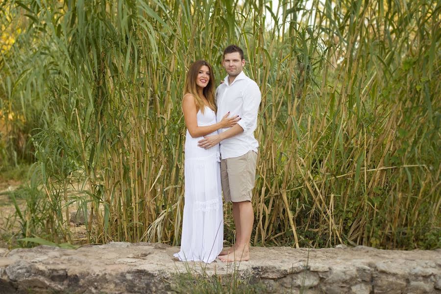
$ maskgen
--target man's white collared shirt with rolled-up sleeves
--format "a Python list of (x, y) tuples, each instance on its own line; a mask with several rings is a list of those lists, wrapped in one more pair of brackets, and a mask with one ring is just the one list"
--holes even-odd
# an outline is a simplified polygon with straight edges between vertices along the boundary
[[(242, 118), (238, 124), (244, 129), (231, 138), (221, 141), (221, 158), (242, 156), (248, 151), (257, 152), (259, 143), (254, 138), (257, 127), (257, 111), (259, 110), (261, 94), (256, 82), (241, 72), (234, 81), (228, 84), (228, 75), (224, 83), (216, 89), (216, 104), (218, 106), (217, 121), (229, 111), (230, 116), (239, 115)], [(228, 128), (222, 128), (219, 133)]]

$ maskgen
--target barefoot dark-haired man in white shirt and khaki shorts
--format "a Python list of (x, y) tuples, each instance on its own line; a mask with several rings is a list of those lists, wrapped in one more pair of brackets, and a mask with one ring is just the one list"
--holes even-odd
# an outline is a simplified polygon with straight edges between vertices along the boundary
[(254, 212), (251, 205), (256, 175), (257, 147), (254, 138), (257, 127), (257, 111), (261, 94), (256, 82), (242, 71), (245, 66), (244, 51), (235, 45), (223, 51), (222, 65), (228, 75), (216, 89), (217, 120), (221, 114), (239, 115), (239, 122), (228, 129), (220, 129), (215, 136), (204, 137), (199, 146), (210, 148), (221, 144), (221, 185), (226, 202), (233, 202), (233, 218), (236, 226), (236, 243), (229, 250), (222, 250), (223, 262), (249, 260), (249, 242), (253, 228)]

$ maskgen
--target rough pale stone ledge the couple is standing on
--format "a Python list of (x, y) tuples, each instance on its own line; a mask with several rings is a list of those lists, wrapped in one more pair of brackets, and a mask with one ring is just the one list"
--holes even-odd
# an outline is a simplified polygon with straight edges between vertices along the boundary
[(252, 247), (251, 260), (185, 264), (178, 247), (111, 242), (76, 250), (41, 245), (0, 249), (0, 294), (172, 293), (170, 277), (188, 269), (259, 279), (267, 293), (441, 293), (441, 249), (380, 250)]

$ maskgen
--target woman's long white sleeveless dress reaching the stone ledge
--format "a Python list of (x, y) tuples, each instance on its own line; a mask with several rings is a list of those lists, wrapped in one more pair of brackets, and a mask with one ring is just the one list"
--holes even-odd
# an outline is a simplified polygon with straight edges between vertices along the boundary
[[(199, 110), (197, 125), (216, 123), (216, 113), (205, 106)], [(216, 135), (218, 131), (210, 135)], [(208, 135), (208, 136), (210, 136)], [(174, 254), (181, 261), (211, 263), (223, 245), (223, 210), (219, 145), (204, 149), (197, 146), (203, 137), (185, 139), (185, 203), (182, 220), (181, 249)]]

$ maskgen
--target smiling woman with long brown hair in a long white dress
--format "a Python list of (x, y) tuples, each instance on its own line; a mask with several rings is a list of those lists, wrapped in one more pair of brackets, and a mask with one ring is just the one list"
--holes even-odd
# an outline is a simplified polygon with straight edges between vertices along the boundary
[(211, 263), (222, 250), (223, 211), (219, 145), (197, 146), (203, 136), (231, 127), (238, 116), (223, 116), (216, 122), (212, 67), (204, 60), (194, 62), (187, 73), (182, 111), (187, 126), (185, 140), (185, 204), (181, 249), (174, 254), (181, 261)]

